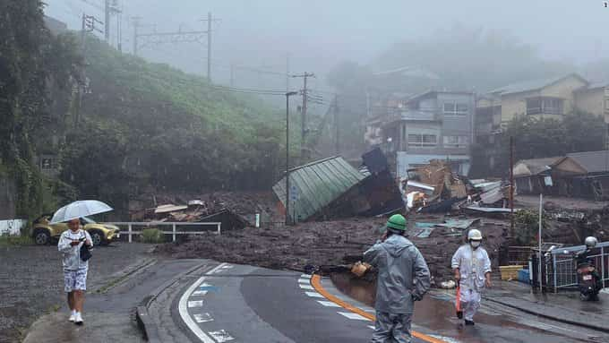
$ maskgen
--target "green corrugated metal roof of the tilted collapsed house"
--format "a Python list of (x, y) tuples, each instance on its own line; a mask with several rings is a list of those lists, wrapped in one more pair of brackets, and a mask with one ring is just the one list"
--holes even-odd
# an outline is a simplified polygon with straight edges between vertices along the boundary
[[(341, 157), (296, 167), (290, 170), (289, 176), (290, 189), (297, 193), (296, 202), (290, 202), (290, 215), (298, 220), (309, 219), (365, 178)], [(286, 177), (273, 186), (273, 192), (285, 206)]]

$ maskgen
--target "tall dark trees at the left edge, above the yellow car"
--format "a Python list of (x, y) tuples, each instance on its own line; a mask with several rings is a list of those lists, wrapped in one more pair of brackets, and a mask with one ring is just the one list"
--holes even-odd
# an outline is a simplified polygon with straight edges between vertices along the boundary
[(70, 40), (47, 30), (39, 0), (0, 2), (0, 177), (15, 183), (20, 217), (43, 210), (45, 189), (57, 186), (34, 166), (38, 136), (57, 127), (49, 90), (63, 97), (80, 61)]

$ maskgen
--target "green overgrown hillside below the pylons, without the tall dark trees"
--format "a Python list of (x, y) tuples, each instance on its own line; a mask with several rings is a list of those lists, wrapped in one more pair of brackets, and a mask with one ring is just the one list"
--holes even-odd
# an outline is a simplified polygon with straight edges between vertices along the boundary
[(139, 193), (268, 189), (277, 178), (283, 121), (260, 100), (97, 39), (86, 61), (89, 89), (62, 163), (81, 194), (124, 208)]

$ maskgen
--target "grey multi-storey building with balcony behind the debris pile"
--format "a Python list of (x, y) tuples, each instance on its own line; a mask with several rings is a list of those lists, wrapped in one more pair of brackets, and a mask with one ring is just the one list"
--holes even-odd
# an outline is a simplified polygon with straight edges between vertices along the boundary
[(382, 124), (382, 146), (396, 175), (405, 178), (431, 159), (449, 160), (467, 175), (475, 107), (474, 94), (459, 91), (426, 91), (400, 103)]

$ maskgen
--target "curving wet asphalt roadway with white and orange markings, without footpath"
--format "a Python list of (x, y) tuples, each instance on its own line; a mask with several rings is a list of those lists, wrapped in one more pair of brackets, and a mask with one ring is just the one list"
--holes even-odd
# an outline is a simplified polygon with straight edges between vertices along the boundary
[[(322, 279), (321, 285), (322, 294), (359, 311), (330, 302), (309, 276), (219, 264), (182, 285), (172, 319), (193, 342), (368, 342), (373, 322), (365, 317), (373, 309), (340, 295), (330, 280)], [(587, 330), (530, 317), (519, 320), (507, 310), (485, 309), (475, 328), (464, 328), (451, 318), (450, 303), (437, 296), (417, 303), (416, 311), (414, 329), (422, 339), (414, 342), (607, 341)]]

